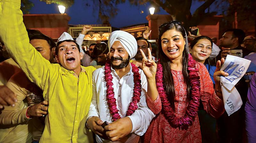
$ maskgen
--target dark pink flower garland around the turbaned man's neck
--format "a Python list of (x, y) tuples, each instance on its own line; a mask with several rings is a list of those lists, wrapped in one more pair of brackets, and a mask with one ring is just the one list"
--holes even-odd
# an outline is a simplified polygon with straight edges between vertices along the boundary
[[(125, 117), (131, 116), (135, 110), (138, 109), (137, 103), (140, 102), (140, 95), (141, 95), (141, 80), (140, 80), (140, 73), (139, 73), (139, 68), (136, 67), (134, 64), (132, 64), (132, 72), (133, 72), (133, 82), (134, 82), (134, 87), (133, 87), (133, 97), (132, 97), (132, 102), (130, 102), (130, 105), (128, 107), (128, 110), (126, 112)], [(113, 77), (111, 75), (111, 64), (110, 62), (107, 62), (105, 64), (105, 81), (106, 81), (106, 86), (107, 86), (107, 103), (109, 107), (110, 114), (112, 115), (112, 121), (116, 121), (117, 119), (120, 119), (121, 116), (118, 113), (118, 109), (116, 108), (116, 98), (115, 98), (115, 93), (114, 93), (114, 88), (113, 86)]]

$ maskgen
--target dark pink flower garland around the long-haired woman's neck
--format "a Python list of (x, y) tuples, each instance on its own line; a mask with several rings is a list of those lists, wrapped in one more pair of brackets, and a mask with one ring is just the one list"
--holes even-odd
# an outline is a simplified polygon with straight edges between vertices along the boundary
[(174, 111), (171, 107), (170, 102), (168, 101), (167, 95), (164, 91), (163, 84), (163, 67), (160, 62), (160, 59), (157, 63), (157, 71), (156, 71), (156, 87), (158, 94), (160, 96), (162, 102), (162, 109), (164, 111), (164, 115), (167, 117), (168, 122), (175, 128), (179, 127), (180, 129), (187, 129), (188, 126), (192, 125), (193, 121), (195, 121), (195, 117), (198, 112), (199, 100), (200, 100), (200, 77), (198, 75), (198, 69), (196, 68), (196, 61), (193, 60), (192, 56), (189, 55), (188, 58), (188, 75), (191, 85), (191, 100), (188, 104), (186, 113), (184, 117), (176, 117), (174, 115)]

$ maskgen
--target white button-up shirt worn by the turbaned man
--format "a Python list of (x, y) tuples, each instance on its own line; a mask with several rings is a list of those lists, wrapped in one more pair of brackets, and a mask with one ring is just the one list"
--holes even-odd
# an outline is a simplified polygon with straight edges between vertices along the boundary
[[(106, 100), (106, 82), (104, 79), (104, 67), (95, 70), (92, 74), (92, 102), (87, 115), (88, 117), (97, 116), (104, 122), (112, 123), (112, 116), (110, 115), (107, 100)], [(113, 76), (113, 88), (116, 98), (117, 109), (121, 117), (125, 117), (126, 111), (133, 95), (133, 73), (130, 64), (130, 71), (124, 75), (121, 79), (116, 74), (115, 70), (111, 68), (111, 75)], [(148, 129), (151, 120), (155, 117), (154, 113), (148, 108), (146, 103), (147, 94), (147, 79), (142, 70), (139, 71), (141, 75), (142, 92), (140, 96), (140, 102), (138, 103), (138, 109), (128, 116), (132, 121), (132, 134), (126, 140), (128, 143), (138, 142), (140, 136), (142, 136)], [(110, 142), (109, 140), (101, 139), (96, 135), (98, 143)]]

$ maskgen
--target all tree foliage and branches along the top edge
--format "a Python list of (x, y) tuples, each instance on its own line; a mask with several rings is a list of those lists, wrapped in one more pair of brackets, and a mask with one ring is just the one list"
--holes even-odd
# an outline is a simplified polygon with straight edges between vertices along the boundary
[[(60, 4), (65, 7), (69, 7), (74, 4), (74, 0), (40, 1), (46, 2), (46, 4)], [(204, 4), (198, 7), (192, 14), (190, 12), (190, 8), (193, 2), (196, 1), (204, 2)], [(172, 19), (183, 21), (186, 27), (196, 26), (204, 18), (215, 15), (217, 13), (216, 11), (209, 11), (211, 4), (214, 4), (216, 8), (218, 8), (221, 4), (225, 3), (224, 7), (221, 8), (221, 11), (229, 21), (234, 21), (233, 18), (235, 12), (238, 14), (238, 21), (249, 20), (255, 23), (256, 19), (256, 0), (129, 0), (129, 2), (133, 5), (144, 5), (149, 2), (154, 5), (156, 11), (162, 7), (164, 11), (172, 16)], [(34, 6), (34, 4), (29, 0), (21, 0), (21, 3), (21, 10), (23, 13), (29, 13), (29, 10)], [(108, 20), (117, 15), (117, 5), (121, 3), (125, 3), (125, 0), (85, 0), (85, 5), (93, 6), (93, 12), (98, 12), (99, 19), (105, 24), (109, 24)]]

